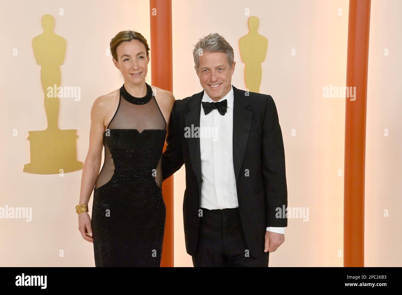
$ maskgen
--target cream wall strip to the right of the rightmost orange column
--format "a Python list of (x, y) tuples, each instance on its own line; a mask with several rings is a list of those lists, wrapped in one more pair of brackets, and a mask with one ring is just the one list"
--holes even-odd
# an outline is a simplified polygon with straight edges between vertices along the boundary
[[(365, 169), (366, 266), (402, 266), (401, 11), (400, 1), (371, 1)], [(388, 136), (384, 136), (386, 132)]]

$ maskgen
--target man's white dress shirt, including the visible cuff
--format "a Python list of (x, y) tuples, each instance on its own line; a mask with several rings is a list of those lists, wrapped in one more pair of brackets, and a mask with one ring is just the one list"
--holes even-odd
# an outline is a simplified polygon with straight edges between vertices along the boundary
[[(219, 101), (228, 100), (224, 116), (217, 109), (205, 115), (201, 106), (201, 207), (207, 209), (236, 208), (236, 178), (233, 167), (233, 87)], [(204, 91), (202, 101), (213, 102)], [(267, 231), (285, 234), (285, 227), (267, 227)]]

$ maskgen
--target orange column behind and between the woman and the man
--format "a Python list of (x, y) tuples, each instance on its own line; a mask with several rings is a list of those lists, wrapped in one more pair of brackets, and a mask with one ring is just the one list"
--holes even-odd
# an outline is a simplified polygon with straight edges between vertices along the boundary
[[(156, 87), (173, 91), (172, 2), (150, 0), (151, 80)], [(166, 142), (163, 150), (166, 149)], [(162, 184), (166, 204), (166, 227), (161, 266), (174, 266), (173, 244), (173, 176)]]

